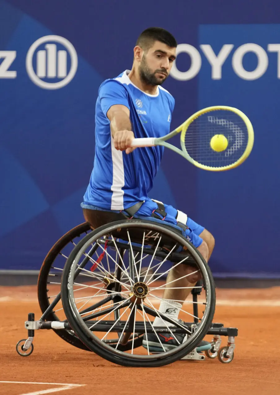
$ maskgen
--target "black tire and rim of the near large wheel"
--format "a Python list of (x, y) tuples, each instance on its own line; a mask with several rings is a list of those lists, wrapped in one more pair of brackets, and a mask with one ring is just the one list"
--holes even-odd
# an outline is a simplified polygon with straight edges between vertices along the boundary
[[(87, 243), (94, 242), (94, 239), (99, 239), (103, 235), (108, 235), (108, 233), (112, 231), (116, 231), (117, 229), (127, 229), (127, 228), (148, 228), (148, 229), (153, 229), (153, 231), (161, 232), (162, 234), (165, 234), (166, 237), (171, 238), (173, 237), (173, 240), (175, 240), (175, 243), (179, 242), (181, 245), (187, 246), (192, 258), (195, 257), (197, 262), (199, 261), (199, 266), (200, 269), (202, 270), (204, 280), (206, 278), (207, 281), (207, 297), (209, 297), (210, 302), (208, 303), (208, 307), (205, 307), (205, 310), (207, 309), (207, 316), (206, 318), (203, 317), (203, 320), (200, 323), (199, 329), (195, 332), (196, 336), (194, 334), (189, 336), (189, 339), (178, 346), (179, 350), (177, 352), (167, 352), (168, 356), (162, 356), (161, 353), (160, 356), (157, 355), (149, 355), (149, 357), (145, 356), (144, 358), (141, 356), (139, 358), (142, 359), (134, 359), (134, 355), (127, 356), (128, 354), (122, 354), (119, 353), (117, 355), (116, 352), (111, 351), (110, 348), (107, 345), (103, 345), (100, 343), (100, 340), (98, 341), (97, 338), (93, 338), (94, 335), (90, 334), (90, 331), (80, 318), (80, 315), (78, 314), (77, 316), (75, 315), (75, 312), (73, 310), (73, 306), (75, 305), (75, 301), (71, 297), (71, 293), (69, 293), (69, 288), (71, 288), (71, 285), (69, 285), (69, 278), (71, 275), (73, 275), (74, 268), (72, 269), (73, 261), (76, 260), (78, 261), (78, 257), (80, 250), (87, 245)], [(119, 236), (120, 239), (123, 239), (122, 236)], [(77, 262), (76, 262), (77, 263)], [(72, 270), (71, 270), (72, 269)], [(71, 274), (72, 272), (72, 274)], [(177, 361), (178, 359), (181, 359), (185, 355), (189, 354), (194, 348), (198, 345), (198, 343), (203, 339), (203, 337), (207, 334), (207, 331), (209, 330), (214, 312), (215, 312), (215, 284), (213, 280), (213, 276), (211, 274), (211, 271), (209, 269), (209, 266), (203, 259), (202, 255), (198, 250), (189, 242), (185, 237), (181, 235), (181, 233), (175, 231), (174, 228), (167, 226), (165, 224), (160, 224), (160, 223), (154, 223), (146, 220), (129, 220), (129, 221), (117, 221), (117, 222), (112, 222), (110, 224), (106, 224), (105, 226), (101, 226), (100, 228), (96, 229), (95, 231), (91, 232), (90, 235), (86, 235), (84, 239), (82, 239), (77, 246), (72, 250), (71, 254), (69, 255), (64, 270), (63, 270), (63, 275), (62, 275), (62, 287), (61, 287), (61, 292), (62, 292), (62, 304), (63, 304), (63, 309), (65, 312), (65, 315), (67, 316), (68, 322), (77, 334), (77, 336), (82, 340), (84, 344), (88, 346), (93, 352), (95, 352), (97, 355), (107, 359), (108, 361), (112, 363), (116, 363), (118, 365), (122, 366), (131, 366), (131, 367), (159, 367), (163, 365), (167, 365), (169, 363), (173, 363), (174, 361)], [(173, 354), (172, 354), (173, 353)]]

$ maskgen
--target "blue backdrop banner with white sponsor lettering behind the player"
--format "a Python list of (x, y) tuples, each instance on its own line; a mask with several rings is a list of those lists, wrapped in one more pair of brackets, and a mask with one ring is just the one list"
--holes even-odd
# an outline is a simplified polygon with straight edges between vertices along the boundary
[(161, 26), (179, 43), (164, 83), (175, 98), (171, 128), (230, 105), (252, 121), (255, 144), (222, 173), (166, 150), (151, 197), (213, 233), (216, 275), (280, 276), (279, 11), (277, 0), (0, 0), (0, 269), (39, 269), (84, 221), (98, 87), (131, 68), (142, 30)]

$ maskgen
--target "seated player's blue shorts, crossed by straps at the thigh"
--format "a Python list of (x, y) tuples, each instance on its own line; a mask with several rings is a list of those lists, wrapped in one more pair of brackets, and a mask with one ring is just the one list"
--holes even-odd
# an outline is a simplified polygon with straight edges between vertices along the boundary
[[(101, 210), (101, 211), (109, 211), (109, 212), (112, 211), (113, 213), (120, 213), (120, 211), (107, 210), (100, 207), (96, 207), (95, 205), (92, 205), (88, 202), (81, 203), (81, 207), (83, 209)], [(156, 210), (157, 208), (158, 206), (156, 201), (148, 198), (144, 201), (143, 205), (136, 212), (136, 214), (134, 214), (134, 218), (155, 220), (158, 222), (159, 220), (156, 220), (155, 218), (151, 217), (153, 210)], [(178, 228), (180, 231), (182, 231), (182, 233), (185, 233), (185, 237), (187, 240), (189, 240), (196, 248), (199, 247), (202, 243), (202, 238), (200, 237), (200, 234), (204, 230), (203, 226), (198, 225), (192, 219), (187, 217), (187, 214), (174, 209), (174, 207), (170, 205), (164, 204), (164, 210), (167, 213), (166, 217), (164, 218), (164, 222), (169, 223), (171, 226)], [(125, 213), (125, 210), (123, 210), (123, 212)], [(187, 225), (188, 229), (186, 229), (186, 231), (183, 231), (181, 228), (177, 226), (177, 221), (183, 223), (184, 225)]]

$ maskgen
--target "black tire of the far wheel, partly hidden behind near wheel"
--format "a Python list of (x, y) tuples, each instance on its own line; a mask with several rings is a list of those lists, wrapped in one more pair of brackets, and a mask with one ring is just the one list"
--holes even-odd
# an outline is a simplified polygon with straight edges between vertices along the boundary
[[(46, 258), (43, 261), (41, 266), (41, 270), (38, 276), (38, 283), (37, 283), (37, 295), (38, 295), (38, 302), (41, 308), (41, 312), (44, 313), (50, 305), (49, 297), (48, 297), (48, 278), (49, 273), (52, 268), (52, 265), (56, 259), (56, 257), (60, 254), (60, 252), (67, 246), (67, 244), (71, 243), (73, 239), (76, 237), (80, 237), (81, 235), (86, 235), (88, 232), (91, 232), (91, 228), (87, 222), (75, 226), (75, 228), (69, 230), (65, 235), (63, 235), (50, 249)], [(45, 321), (60, 321), (58, 316), (51, 311), (46, 317)], [(69, 330), (61, 330), (61, 329), (53, 329), (53, 331), (65, 340), (67, 343), (72, 344), (77, 348), (81, 348), (82, 350), (87, 350), (86, 347), (80, 339), (75, 335), (73, 331)]]

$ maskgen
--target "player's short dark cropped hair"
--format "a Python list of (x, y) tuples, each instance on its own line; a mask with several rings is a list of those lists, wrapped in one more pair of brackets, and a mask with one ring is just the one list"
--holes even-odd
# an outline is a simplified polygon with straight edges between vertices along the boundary
[(160, 41), (171, 48), (177, 47), (177, 41), (175, 40), (174, 36), (161, 27), (149, 27), (144, 30), (144, 32), (142, 32), (138, 37), (136, 45), (139, 45), (139, 47), (146, 51), (153, 46), (155, 41)]

